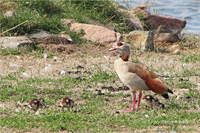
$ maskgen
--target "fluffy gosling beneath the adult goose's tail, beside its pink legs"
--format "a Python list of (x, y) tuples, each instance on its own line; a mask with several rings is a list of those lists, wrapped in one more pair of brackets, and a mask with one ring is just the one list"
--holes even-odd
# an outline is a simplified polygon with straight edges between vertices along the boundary
[(159, 108), (159, 109), (164, 109), (165, 105), (160, 103), (157, 97), (152, 96), (152, 95), (146, 95), (142, 97), (141, 100), (142, 103), (144, 103), (147, 107), (150, 108)]

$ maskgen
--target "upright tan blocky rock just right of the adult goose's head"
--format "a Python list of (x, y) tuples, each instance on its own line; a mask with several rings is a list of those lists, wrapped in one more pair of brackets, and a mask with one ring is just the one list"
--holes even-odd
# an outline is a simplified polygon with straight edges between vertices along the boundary
[(154, 50), (153, 32), (151, 31), (132, 31), (126, 36), (125, 40), (130, 45), (134, 45), (136, 48), (141, 48), (144, 51)]

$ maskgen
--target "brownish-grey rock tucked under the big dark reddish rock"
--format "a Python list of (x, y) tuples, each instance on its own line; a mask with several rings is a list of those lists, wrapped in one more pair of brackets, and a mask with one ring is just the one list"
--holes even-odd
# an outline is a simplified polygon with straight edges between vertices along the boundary
[(155, 37), (156, 37), (156, 41), (158, 42), (174, 43), (180, 40), (178, 34), (173, 33), (173, 31), (171, 31), (164, 25), (160, 25), (158, 27)]

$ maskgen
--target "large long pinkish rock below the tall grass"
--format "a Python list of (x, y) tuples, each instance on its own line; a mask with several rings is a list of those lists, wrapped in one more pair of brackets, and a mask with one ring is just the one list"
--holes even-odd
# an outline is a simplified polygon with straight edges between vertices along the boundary
[(102, 44), (114, 44), (121, 38), (120, 33), (114, 32), (105, 27), (91, 24), (73, 23), (70, 27), (70, 30), (76, 32), (84, 30), (85, 34), (83, 35), (83, 38)]

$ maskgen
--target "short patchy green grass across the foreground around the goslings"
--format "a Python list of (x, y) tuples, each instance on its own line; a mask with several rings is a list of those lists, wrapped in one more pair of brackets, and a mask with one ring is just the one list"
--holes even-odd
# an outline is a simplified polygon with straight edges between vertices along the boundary
[[(111, 103), (123, 97), (131, 99), (130, 94), (125, 94), (122, 91), (115, 94), (109, 92), (105, 95), (98, 95), (96, 92), (88, 92), (86, 89), (80, 90), (79, 93), (73, 93), (73, 89), (77, 85), (86, 88), (88, 84), (95, 82), (111, 84), (113, 80), (117, 79), (115, 74), (109, 74), (100, 68), (95, 73), (79, 75), (80, 79), (85, 78), (86, 80), (75, 79), (68, 74), (57, 79), (28, 78), (19, 80), (19, 74), (20, 72), (1, 79), (0, 86), (5, 85), (0, 89), (1, 102), (12, 101), (16, 104), (17, 101), (28, 102), (32, 98), (42, 97), (47, 106), (54, 107), (57, 100), (65, 96), (85, 102), (78, 104), (74, 109), (66, 109), (65, 112), (61, 112), (58, 108), (43, 109), (40, 110), (39, 116), (35, 116), (34, 111), (28, 109), (16, 112), (15, 109), (0, 108), (1, 114), (5, 114), (1, 117), (0, 127), (14, 128), (19, 131), (30, 131), (37, 128), (41, 131), (59, 131), (61, 128), (65, 128), (67, 131), (73, 132), (120, 132), (123, 129), (134, 131), (152, 127), (158, 127), (157, 130), (162, 130), (159, 127), (167, 126), (167, 131), (195, 131), (191, 128), (182, 129), (179, 126), (194, 126), (200, 122), (198, 112), (187, 112), (187, 109), (195, 108), (197, 103), (200, 104), (199, 93), (194, 89), (190, 89), (188, 93), (184, 94), (184, 97), (193, 97), (195, 103), (189, 104), (181, 100), (171, 99), (167, 101), (168, 108), (165, 110), (146, 109), (117, 114), (115, 111), (118, 108), (123, 109), (129, 103), (116, 102), (117, 105), (113, 106)], [(183, 83), (183, 86), (186, 88), (194, 87), (189, 82)], [(182, 88), (181, 85), (178, 87)], [(108, 97), (111, 103), (106, 102), (105, 97)], [(145, 108), (144, 105), (141, 108)], [(149, 117), (145, 117), (145, 115)]]

